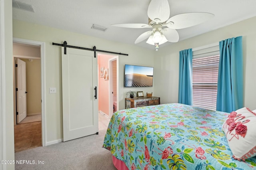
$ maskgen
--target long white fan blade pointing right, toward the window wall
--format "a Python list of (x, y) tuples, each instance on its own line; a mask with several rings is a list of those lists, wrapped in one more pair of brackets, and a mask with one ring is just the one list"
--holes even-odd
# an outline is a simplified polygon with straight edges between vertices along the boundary
[[(188, 27), (206, 22), (212, 17), (214, 17), (214, 14), (210, 14), (206, 12), (192, 12), (192, 13), (178, 14), (168, 19), (166, 21), (166, 26), (172, 29), (188, 28)], [(168, 24), (168, 22), (173, 22), (173, 23)]]

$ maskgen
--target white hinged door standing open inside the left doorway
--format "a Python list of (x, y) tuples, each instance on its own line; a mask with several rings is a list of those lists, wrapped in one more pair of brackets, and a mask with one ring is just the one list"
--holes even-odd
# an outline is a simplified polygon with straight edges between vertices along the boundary
[(17, 105), (17, 123), (20, 123), (27, 117), (27, 92), (26, 92), (26, 62), (16, 59), (16, 105)]

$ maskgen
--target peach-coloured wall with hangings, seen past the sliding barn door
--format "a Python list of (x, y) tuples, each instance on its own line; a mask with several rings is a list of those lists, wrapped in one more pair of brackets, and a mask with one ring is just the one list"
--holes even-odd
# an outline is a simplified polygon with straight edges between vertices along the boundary
[(100, 77), (100, 68), (104, 67), (105, 69), (108, 68), (108, 59), (112, 58), (113, 56), (110, 55), (98, 55), (98, 85), (99, 85), (99, 111), (109, 115), (109, 80), (105, 80), (104, 77)]

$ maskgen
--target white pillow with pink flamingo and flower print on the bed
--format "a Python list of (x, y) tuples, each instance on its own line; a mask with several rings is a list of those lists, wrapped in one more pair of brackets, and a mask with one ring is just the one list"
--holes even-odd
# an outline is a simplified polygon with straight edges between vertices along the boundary
[(256, 113), (244, 107), (233, 111), (222, 126), (236, 160), (256, 155)]

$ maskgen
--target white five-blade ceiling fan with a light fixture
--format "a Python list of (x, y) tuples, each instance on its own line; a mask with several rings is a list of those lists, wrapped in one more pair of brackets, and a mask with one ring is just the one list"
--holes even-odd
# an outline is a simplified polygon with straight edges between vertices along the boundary
[(201, 24), (212, 18), (214, 14), (207, 12), (192, 12), (178, 14), (170, 17), (168, 0), (151, 0), (148, 6), (148, 24), (113, 24), (112, 26), (123, 28), (153, 28), (142, 33), (135, 43), (148, 40), (146, 43), (155, 45), (158, 51), (159, 45), (166, 42), (178, 42), (179, 34), (176, 29), (188, 28)]

